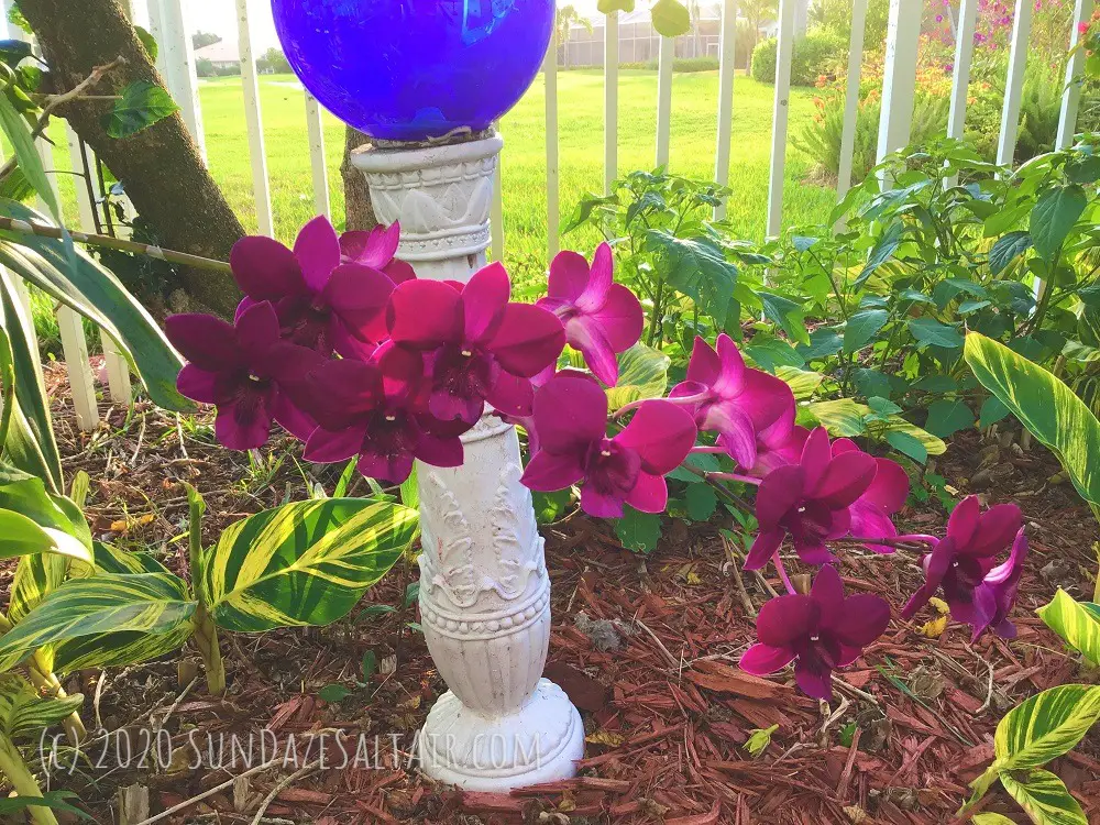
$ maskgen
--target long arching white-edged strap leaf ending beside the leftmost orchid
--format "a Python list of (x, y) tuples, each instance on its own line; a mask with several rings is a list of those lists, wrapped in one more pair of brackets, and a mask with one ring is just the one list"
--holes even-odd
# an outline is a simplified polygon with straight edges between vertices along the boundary
[[(35, 223), (48, 222), (33, 209), (0, 200), (0, 215)], [(191, 409), (176, 392), (183, 361), (160, 326), (119, 279), (81, 250), (62, 241), (0, 232), (0, 263), (48, 295), (91, 319), (117, 341), (160, 407)]]

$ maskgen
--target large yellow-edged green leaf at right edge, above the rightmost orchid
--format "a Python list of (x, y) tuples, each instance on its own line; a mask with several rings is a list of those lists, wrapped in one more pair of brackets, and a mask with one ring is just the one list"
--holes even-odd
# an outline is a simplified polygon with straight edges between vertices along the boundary
[(966, 361), (986, 389), (1047, 447), (1085, 501), (1100, 504), (1100, 421), (1062, 381), (1008, 346), (977, 332)]

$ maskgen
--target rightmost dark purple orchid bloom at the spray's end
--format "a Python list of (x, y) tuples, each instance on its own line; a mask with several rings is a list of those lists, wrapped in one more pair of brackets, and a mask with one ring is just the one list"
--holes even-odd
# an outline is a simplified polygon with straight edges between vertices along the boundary
[(959, 502), (947, 519), (947, 537), (924, 557), (924, 584), (905, 604), (902, 616), (912, 618), (942, 588), (952, 617), (977, 627), (985, 613), (975, 603), (975, 592), (1022, 522), (1023, 514), (1014, 504), (998, 504), (982, 513), (978, 496)]

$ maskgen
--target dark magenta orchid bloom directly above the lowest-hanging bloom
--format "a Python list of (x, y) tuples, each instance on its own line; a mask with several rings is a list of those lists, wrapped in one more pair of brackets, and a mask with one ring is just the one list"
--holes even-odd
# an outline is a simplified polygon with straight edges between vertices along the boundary
[(799, 558), (807, 564), (833, 561), (825, 542), (847, 536), (851, 505), (875, 481), (878, 466), (860, 451), (833, 454), (828, 433), (818, 427), (806, 438), (796, 464), (772, 470), (757, 491), (760, 531), (745, 561), (759, 570), (790, 534)]

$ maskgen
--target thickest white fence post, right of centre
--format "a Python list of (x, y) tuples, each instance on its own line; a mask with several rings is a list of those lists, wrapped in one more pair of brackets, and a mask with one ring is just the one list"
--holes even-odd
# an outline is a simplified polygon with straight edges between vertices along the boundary
[(923, 3), (890, 0), (887, 25), (887, 58), (882, 76), (882, 114), (875, 153), (881, 162), (891, 152), (904, 148), (913, 127), (916, 97), (916, 50), (921, 38)]

